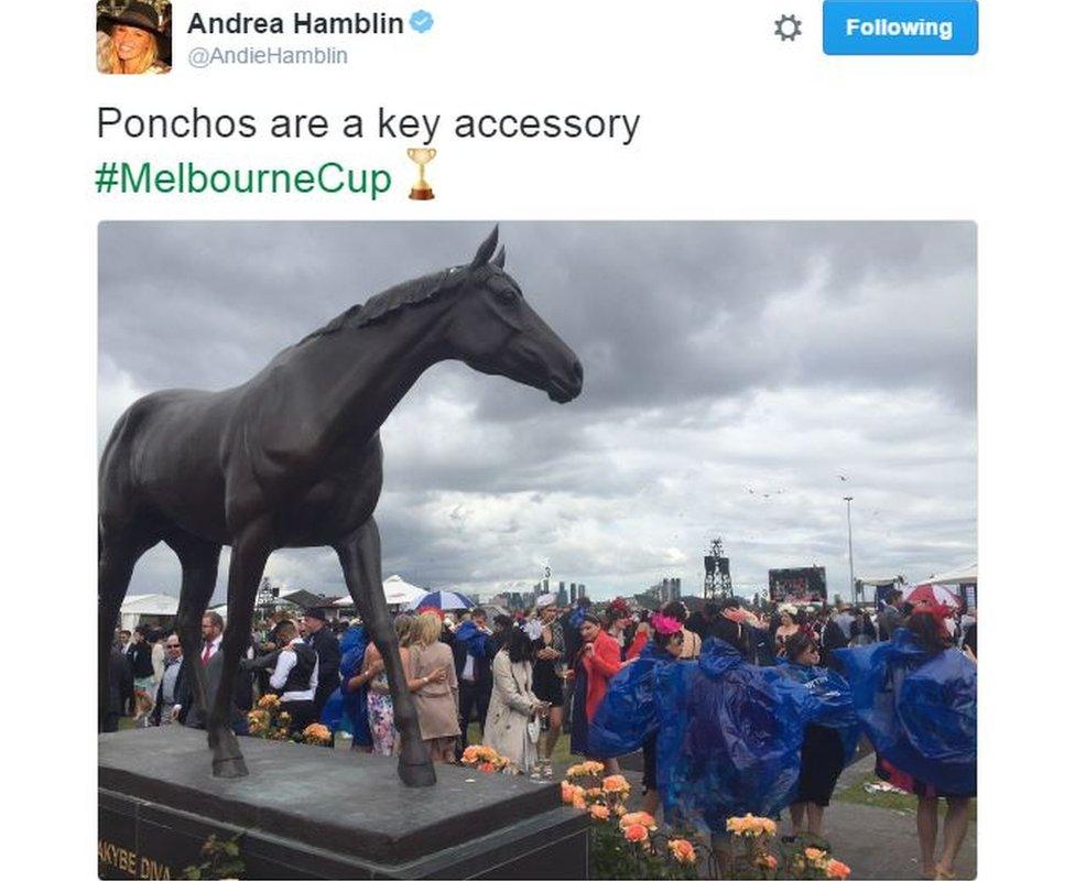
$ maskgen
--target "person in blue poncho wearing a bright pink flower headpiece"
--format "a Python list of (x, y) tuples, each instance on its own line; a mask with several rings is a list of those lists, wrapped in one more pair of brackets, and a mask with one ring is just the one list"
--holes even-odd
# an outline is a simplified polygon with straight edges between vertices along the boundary
[(590, 722), (589, 747), (597, 758), (612, 759), (642, 750), (642, 809), (660, 805), (658, 736), (661, 729), (661, 672), (683, 650), (683, 624), (661, 613), (650, 619), (652, 639), (638, 657), (608, 684)]

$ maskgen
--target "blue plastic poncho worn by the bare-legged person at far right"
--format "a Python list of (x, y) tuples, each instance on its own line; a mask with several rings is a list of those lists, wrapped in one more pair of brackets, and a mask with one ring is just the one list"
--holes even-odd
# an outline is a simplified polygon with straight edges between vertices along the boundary
[(900, 628), (892, 639), (835, 652), (878, 755), (948, 795), (974, 795), (978, 670), (957, 649), (930, 655)]

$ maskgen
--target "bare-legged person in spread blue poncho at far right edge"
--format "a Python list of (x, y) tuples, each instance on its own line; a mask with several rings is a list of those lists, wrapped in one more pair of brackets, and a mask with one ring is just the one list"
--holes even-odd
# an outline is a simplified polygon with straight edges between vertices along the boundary
[[(926, 877), (952, 878), (977, 787), (977, 667), (952, 646), (948, 610), (913, 609), (892, 639), (836, 652), (855, 710), (877, 750), (877, 773), (919, 796)], [(948, 811), (936, 857), (940, 798)]]

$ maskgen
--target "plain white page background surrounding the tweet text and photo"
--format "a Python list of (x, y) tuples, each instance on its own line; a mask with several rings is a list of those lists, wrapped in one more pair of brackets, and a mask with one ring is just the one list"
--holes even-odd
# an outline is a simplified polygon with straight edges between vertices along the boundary
[[(88, 0), (62, 10), (9, 6), (0, 516), (3, 754), (15, 826), (7, 820), (6, 868), (96, 871), (98, 220), (942, 218), (979, 224), (979, 872), (1062, 871), (1069, 863), (1060, 837), (1071, 791), (1061, 716), (1069, 715), (1063, 621), (1075, 293), (1066, 7), (986, 0), (977, 57), (884, 59), (825, 57), (821, 3), (802, 0), (386, 0), (378, 8), (406, 17), (417, 6), (436, 18), (425, 35), (300, 41), (347, 46), (347, 67), (192, 70), (186, 48), (211, 41), (177, 33), (171, 75), (131, 78), (96, 74)], [(289, 9), (185, 2), (176, 31), (196, 7)], [(343, 0), (305, 8), (371, 9)], [(772, 34), (784, 12), (804, 22), (794, 44)], [(446, 116), (643, 119), (630, 148), (438, 139), (433, 203), (406, 200), (404, 186), (376, 205), (327, 196), (119, 198), (93, 193), (93, 170), (105, 159), (285, 165), (351, 157), (357, 166), (388, 164), (404, 184), (413, 166), (403, 150), (413, 142), (101, 142), (95, 122), (106, 102), (131, 112), (197, 105), (337, 116), (384, 105)]]

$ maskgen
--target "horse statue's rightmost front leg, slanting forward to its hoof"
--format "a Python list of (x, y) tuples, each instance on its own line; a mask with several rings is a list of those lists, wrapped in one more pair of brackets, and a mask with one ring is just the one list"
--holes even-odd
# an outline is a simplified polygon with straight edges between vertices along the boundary
[(370, 518), (351, 535), (336, 544), (335, 548), (344, 569), (347, 589), (369, 627), (381, 657), (384, 659), (395, 727), (403, 738), (399, 763), (400, 780), (408, 786), (432, 786), (436, 783), (436, 772), (430, 760), (430, 751), (422, 742), (417, 711), (406, 687), (406, 674), (400, 661), (400, 643), (384, 601), (381, 536), (377, 531), (377, 522)]

